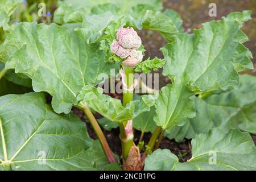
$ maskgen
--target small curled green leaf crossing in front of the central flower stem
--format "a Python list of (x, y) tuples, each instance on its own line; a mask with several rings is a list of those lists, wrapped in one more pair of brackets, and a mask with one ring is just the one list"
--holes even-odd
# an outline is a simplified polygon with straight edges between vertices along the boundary
[(105, 118), (113, 122), (124, 122), (137, 117), (139, 114), (149, 111), (155, 104), (155, 97), (145, 95), (140, 101), (131, 101), (124, 107), (121, 100), (103, 94), (103, 89), (85, 86), (77, 100), (81, 105), (86, 104), (90, 109), (100, 113)]

